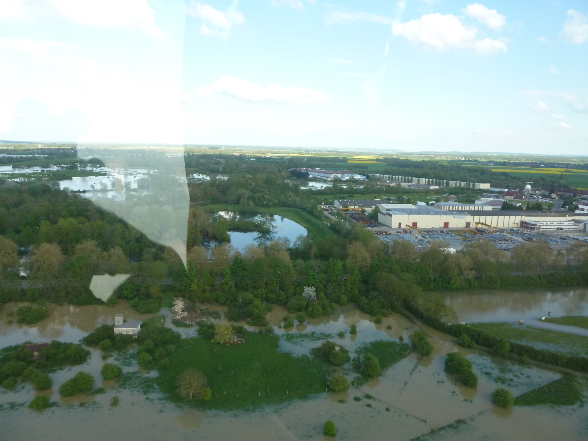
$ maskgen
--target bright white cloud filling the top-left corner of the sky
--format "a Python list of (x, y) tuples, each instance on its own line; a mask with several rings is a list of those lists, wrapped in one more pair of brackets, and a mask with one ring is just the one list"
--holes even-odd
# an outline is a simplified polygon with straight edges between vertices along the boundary
[(156, 38), (165, 36), (155, 24), (155, 11), (147, 0), (2, 0), (0, 21), (34, 18), (65, 19), (106, 28), (135, 28)]

